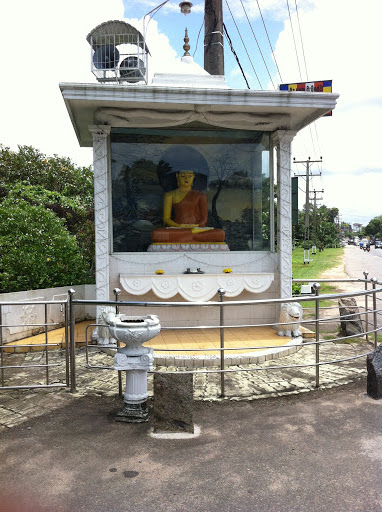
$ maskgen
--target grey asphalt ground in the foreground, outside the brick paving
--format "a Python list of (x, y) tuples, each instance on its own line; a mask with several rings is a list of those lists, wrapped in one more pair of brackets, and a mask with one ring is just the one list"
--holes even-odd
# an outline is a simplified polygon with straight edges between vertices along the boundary
[(365, 396), (364, 380), (196, 402), (201, 434), (188, 440), (117, 423), (119, 407), (116, 397), (88, 395), (3, 432), (0, 511), (382, 510), (382, 400)]

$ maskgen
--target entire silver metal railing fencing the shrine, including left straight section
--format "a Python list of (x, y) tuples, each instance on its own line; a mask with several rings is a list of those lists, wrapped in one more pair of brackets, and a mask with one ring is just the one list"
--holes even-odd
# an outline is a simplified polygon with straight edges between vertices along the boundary
[[(307, 296), (297, 296), (297, 297), (290, 297), (287, 299), (268, 299), (268, 300), (251, 300), (251, 301), (224, 301), (224, 294), (222, 290), (219, 290), (219, 301), (208, 301), (208, 302), (136, 302), (136, 301), (119, 301), (118, 300), (118, 294), (120, 290), (115, 289), (115, 300), (113, 301), (96, 301), (96, 300), (76, 300), (75, 299), (75, 290), (71, 289), (68, 292), (68, 300), (66, 302), (36, 302), (34, 304), (41, 304), (45, 307), (45, 323), (35, 325), (36, 327), (43, 327), (45, 332), (45, 343), (41, 344), (40, 346), (45, 348), (46, 351), (46, 361), (43, 365), (32, 365), (30, 367), (44, 367), (46, 369), (46, 380), (45, 384), (38, 384), (38, 385), (22, 385), (22, 386), (5, 386), (4, 385), (4, 373), (9, 368), (21, 368), (22, 370), (26, 370), (28, 366), (7, 366), (5, 361), (5, 353), (4, 349), (7, 347), (6, 344), (3, 344), (3, 338), (2, 338), (2, 330), (4, 327), (8, 327), (6, 325), (2, 325), (2, 306), (4, 305), (20, 305), (19, 302), (17, 303), (0, 303), (0, 357), (1, 357), (1, 388), (0, 389), (25, 389), (25, 388), (34, 388), (34, 387), (70, 387), (72, 392), (75, 392), (77, 389), (76, 384), (76, 339), (75, 339), (75, 308), (77, 305), (97, 305), (97, 306), (115, 306), (118, 310), (121, 310), (125, 307), (131, 307), (131, 306), (138, 306), (145, 308), (146, 311), (148, 308), (150, 308), (151, 311), (157, 309), (157, 308), (163, 308), (163, 307), (192, 307), (192, 308), (203, 308), (203, 307), (217, 307), (220, 309), (220, 322), (219, 325), (213, 325), (213, 326), (187, 326), (187, 327), (162, 327), (162, 330), (192, 330), (192, 329), (220, 329), (220, 348), (211, 348), (211, 349), (192, 349), (193, 351), (203, 351), (206, 352), (207, 350), (211, 351), (217, 351), (220, 350), (220, 365), (219, 367), (211, 367), (210, 369), (181, 369), (182, 373), (219, 373), (220, 374), (220, 395), (222, 397), (225, 396), (225, 386), (224, 386), (224, 377), (225, 374), (229, 372), (252, 372), (252, 371), (261, 371), (261, 370), (280, 370), (283, 368), (302, 368), (307, 366), (314, 366), (315, 371), (315, 387), (320, 386), (320, 367), (323, 365), (330, 365), (330, 364), (336, 364), (336, 363), (342, 363), (346, 361), (351, 361), (354, 359), (359, 359), (362, 357), (365, 357), (370, 352), (366, 352), (364, 354), (360, 354), (354, 357), (348, 357), (343, 359), (337, 359), (337, 360), (331, 360), (331, 361), (321, 361), (320, 360), (320, 346), (326, 344), (326, 343), (333, 343), (338, 342), (342, 340), (348, 340), (349, 338), (359, 338), (360, 336), (365, 336), (367, 341), (371, 341), (373, 343), (374, 349), (377, 348), (378, 343), (378, 332), (382, 329), (382, 326), (378, 326), (378, 320), (380, 320), (382, 316), (382, 282), (377, 281), (376, 279), (367, 279), (367, 273), (364, 273), (364, 279), (341, 279), (341, 280), (330, 280), (330, 279), (317, 279), (317, 280), (294, 280), (294, 282), (304, 282), (304, 283), (311, 283), (312, 284), (312, 294)], [(328, 283), (328, 282), (336, 282), (336, 283), (360, 283), (364, 286), (364, 290), (360, 290), (358, 292), (349, 292), (349, 293), (337, 293), (337, 294), (325, 294), (320, 295), (320, 283)], [(371, 285), (371, 287), (370, 287)], [(333, 317), (326, 317), (326, 318), (320, 318), (320, 312), (324, 308), (323, 306), (320, 306), (320, 302), (324, 300), (333, 300), (333, 299), (339, 299), (339, 298), (345, 298), (345, 297), (364, 297), (365, 305), (362, 308), (363, 311), (359, 311), (359, 315), (364, 318), (363, 325), (364, 325), (364, 332), (360, 334), (355, 334), (352, 336), (346, 336), (346, 337), (336, 337), (332, 339), (321, 339), (320, 340), (320, 326), (328, 321), (346, 321), (346, 316), (333, 316)], [(301, 349), (305, 346), (314, 345), (315, 346), (315, 362), (310, 364), (304, 364), (304, 365), (273, 365), (273, 366), (266, 366), (261, 367), (256, 365), (256, 367), (253, 368), (237, 368), (234, 366), (226, 367), (225, 365), (225, 356), (227, 353), (229, 353), (230, 350), (264, 350), (264, 349), (271, 349), (274, 348), (274, 346), (270, 347), (235, 347), (235, 348), (228, 348), (225, 347), (224, 344), (224, 332), (225, 329), (235, 329), (235, 328), (243, 328), (243, 327), (264, 327), (264, 326), (270, 326), (270, 327), (276, 327), (277, 323), (275, 324), (246, 324), (246, 325), (227, 325), (224, 322), (224, 310), (225, 308), (229, 308), (231, 306), (247, 306), (247, 305), (264, 305), (264, 304), (281, 304), (281, 303), (288, 303), (288, 302), (300, 302), (302, 305), (306, 302), (314, 301), (314, 318), (306, 319), (298, 322), (301, 325), (311, 325), (313, 326), (315, 330), (315, 338), (312, 338), (312, 341), (306, 341), (302, 345), (293, 345), (288, 344), (288, 347), (300, 347)], [(48, 348), (52, 346), (52, 344), (48, 344), (48, 328), (54, 327), (53, 324), (48, 324), (47, 322), (47, 314), (46, 314), (46, 308), (48, 304), (62, 304), (65, 307), (65, 357), (66, 357), (66, 378), (61, 383), (50, 383), (49, 382), (49, 368), (51, 364), (49, 363), (49, 350)], [(330, 308), (329, 308), (330, 309)], [(354, 316), (348, 315), (349, 320), (351, 320), (351, 317)], [(297, 323), (297, 322), (291, 322), (290, 325)], [(380, 321), (382, 324), (382, 322)], [(97, 326), (96, 323), (91, 324), (91, 326)], [(86, 331), (87, 332), (87, 331)], [(369, 339), (370, 337), (370, 339)], [(87, 338), (87, 336), (86, 336)], [(30, 345), (18, 345), (19, 347), (28, 347)], [(93, 366), (89, 363), (88, 359), (88, 349), (91, 347), (95, 348), (102, 348), (98, 345), (89, 345), (88, 340), (86, 339), (86, 360), (87, 360), (87, 367), (89, 369), (93, 370), (114, 370), (112, 366)], [(163, 352), (168, 349), (155, 349), (155, 352)], [(189, 349), (171, 349), (172, 352), (182, 352), (187, 351)], [(176, 373), (175, 371), (166, 370), (166, 373)], [(160, 373), (159, 370), (153, 370), (151, 373)], [(122, 393), (122, 384), (121, 384), (121, 374), (119, 372), (119, 393)]]

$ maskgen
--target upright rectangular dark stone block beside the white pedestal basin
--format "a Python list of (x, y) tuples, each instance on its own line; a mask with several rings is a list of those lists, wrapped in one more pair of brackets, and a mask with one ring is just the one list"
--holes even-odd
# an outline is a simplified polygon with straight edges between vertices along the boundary
[(192, 374), (154, 374), (154, 432), (194, 433)]

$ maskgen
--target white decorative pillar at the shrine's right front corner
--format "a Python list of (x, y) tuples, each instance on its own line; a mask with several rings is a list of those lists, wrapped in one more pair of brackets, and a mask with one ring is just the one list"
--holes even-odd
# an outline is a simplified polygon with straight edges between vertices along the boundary
[(272, 143), (277, 151), (277, 252), (280, 298), (292, 296), (291, 142), (296, 133), (278, 130), (272, 134)]

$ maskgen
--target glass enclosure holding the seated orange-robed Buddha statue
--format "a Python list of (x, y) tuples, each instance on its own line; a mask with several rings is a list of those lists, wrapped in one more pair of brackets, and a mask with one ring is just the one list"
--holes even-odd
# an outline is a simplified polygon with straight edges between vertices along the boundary
[(185, 227), (230, 251), (269, 250), (267, 133), (114, 128), (111, 180), (113, 252), (146, 252), (167, 234), (162, 243), (177, 242)]

